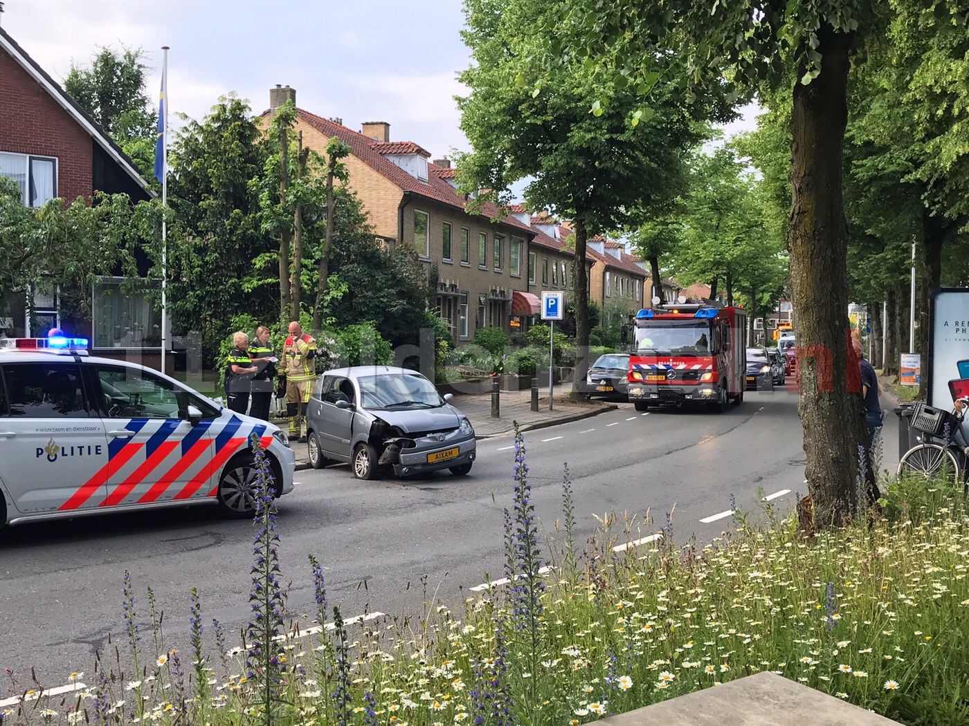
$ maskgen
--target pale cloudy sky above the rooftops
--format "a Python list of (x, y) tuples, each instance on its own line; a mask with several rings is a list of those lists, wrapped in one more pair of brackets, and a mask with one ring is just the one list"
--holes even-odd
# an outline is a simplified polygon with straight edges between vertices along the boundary
[[(343, 119), (387, 121), (391, 140), (433, 158), (470, 150), (458, 128), (457, 73), (469, 64), (460, 0), (4, 0), (3, 25), (58, 81), (101, 46), (139, 48), (157, 98), (169, 45), (170, 112), (201, 119), (235, 92), (254, 111), (277, 83), (297, 106)], [(755, 108), (727, 128), (755, 128)], [(172, 118), (172, 125), (177, 120)]]

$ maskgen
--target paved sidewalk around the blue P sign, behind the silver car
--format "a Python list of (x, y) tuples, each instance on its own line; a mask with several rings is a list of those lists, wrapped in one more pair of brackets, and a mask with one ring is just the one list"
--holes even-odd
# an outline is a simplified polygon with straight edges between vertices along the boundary
[[(548, 410), (548, 388), (539, 392), (539, 409), (533, 411), (532, 391), (502, 391), (499, 418), (491, 417), (491, 394), (478, 393), (454, 396), (451, 405), (457, 408), (471, 421), (475, 427), (476, 439), (507, 434), (515, 428), (515, 422), (522, 431), (543, 429), (547, 426), (571, 423), (583, 418), (595, 416), (618, 408), (616, 404), (603, 401), (589, 401), (574, 404), (569, 401), (572, 383), (560, 383), (555, 386), (553, 409)], [(285, 422), (283, 424), (285, 426)], [(297, 454), (297, 470), (309, 467), (308, 452), (305, 444), (292, 443)]]

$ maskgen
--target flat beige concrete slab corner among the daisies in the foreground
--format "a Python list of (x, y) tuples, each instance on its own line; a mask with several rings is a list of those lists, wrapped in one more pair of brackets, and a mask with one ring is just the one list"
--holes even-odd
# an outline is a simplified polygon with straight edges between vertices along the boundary
[(890, 718), (770, 672), (620, 713), (597, 723), (602, 726), (897, 726), (897, 721)]

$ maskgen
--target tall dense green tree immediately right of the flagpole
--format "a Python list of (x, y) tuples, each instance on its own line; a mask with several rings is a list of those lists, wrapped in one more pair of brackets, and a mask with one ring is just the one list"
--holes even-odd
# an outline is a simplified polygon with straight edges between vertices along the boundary
[(169, 152), (169, 203), (181, 230), (169, 255), (172, 330), (201, 331), (206, 350), (218, 349), (236, 316), (278, 318), (278, 298), (254, 263), (272, 249), (253, 190), (266, 165), (260, 139), (249, 106), (229, 96), (186, 124)]

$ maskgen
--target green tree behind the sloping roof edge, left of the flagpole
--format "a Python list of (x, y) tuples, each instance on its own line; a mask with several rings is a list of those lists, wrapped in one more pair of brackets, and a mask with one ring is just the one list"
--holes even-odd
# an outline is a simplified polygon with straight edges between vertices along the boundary
[(139, 166), (146, 177), (155, 161), (158, 113), (144, 90), (144, 51), (102, 47), (89, 66), (71, 65), (64, 90)]

